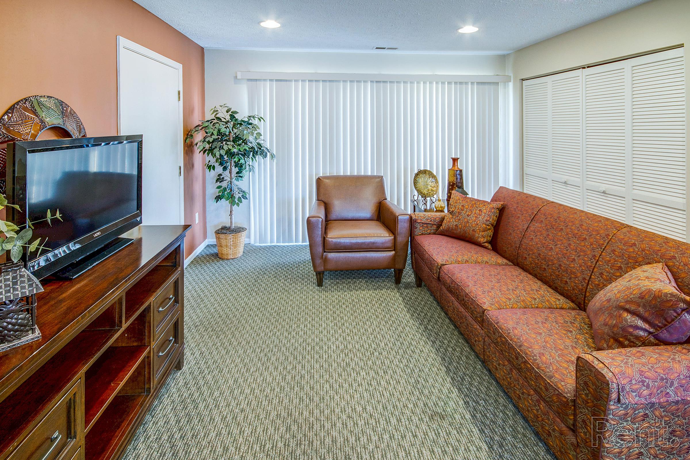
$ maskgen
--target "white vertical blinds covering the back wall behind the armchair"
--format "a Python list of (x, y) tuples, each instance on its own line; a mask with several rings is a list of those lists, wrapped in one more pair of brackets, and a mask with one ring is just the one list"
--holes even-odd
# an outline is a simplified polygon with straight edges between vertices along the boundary
[[(506, 83), (248, 80), (249, 112), (275, 161), (250, 175), (250, 241), (306, 243), (315, 180), (382, 174), (388, 199), (411, 210), (412, 178), (437, 174), (445, 196), (451, 157), (460, 157), (471, 196), (489, 199), (508, 139)], [(504, 127), (502, 129), (502, 126)]]

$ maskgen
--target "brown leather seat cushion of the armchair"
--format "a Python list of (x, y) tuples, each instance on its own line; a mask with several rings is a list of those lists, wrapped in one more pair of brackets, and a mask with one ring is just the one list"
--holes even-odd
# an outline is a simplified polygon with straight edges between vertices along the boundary
[(326, 251), (395, 250), (395, 235), (380, 221), (326, 222)]

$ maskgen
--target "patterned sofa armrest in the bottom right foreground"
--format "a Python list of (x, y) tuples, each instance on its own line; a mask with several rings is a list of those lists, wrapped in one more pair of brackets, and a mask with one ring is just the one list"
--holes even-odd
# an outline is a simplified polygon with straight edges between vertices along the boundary
[(690, 346), (586, 353), (576, 374), (578, 460), (690, 453)]

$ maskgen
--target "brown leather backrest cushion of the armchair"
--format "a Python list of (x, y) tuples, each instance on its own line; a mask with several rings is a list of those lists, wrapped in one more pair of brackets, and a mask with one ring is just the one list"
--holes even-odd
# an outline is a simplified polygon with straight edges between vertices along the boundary
[(316, 199), (326, 205), (327, 221), (375, 221), (380, 203), (386, 199), (386, 184), (383, 176), (320, 176)]

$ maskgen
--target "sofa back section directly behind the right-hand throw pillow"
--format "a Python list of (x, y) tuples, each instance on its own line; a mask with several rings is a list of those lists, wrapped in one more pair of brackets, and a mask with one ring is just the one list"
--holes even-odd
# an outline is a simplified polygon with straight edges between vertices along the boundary
[(589, 303), (603, 288), (624, 274), (651, 263), (666, 264), (678, 288), (690, 294), (690, 244), (636, 227), (611, 238), (594, 267), (585, 295)]

